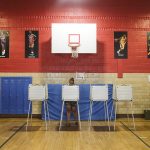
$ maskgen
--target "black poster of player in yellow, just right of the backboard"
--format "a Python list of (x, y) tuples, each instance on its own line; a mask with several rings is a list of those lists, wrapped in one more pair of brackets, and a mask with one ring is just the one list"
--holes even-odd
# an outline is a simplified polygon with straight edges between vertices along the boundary
[(114, 58), (128, 58), (128, 35), (127, 32), (114, 32)]

